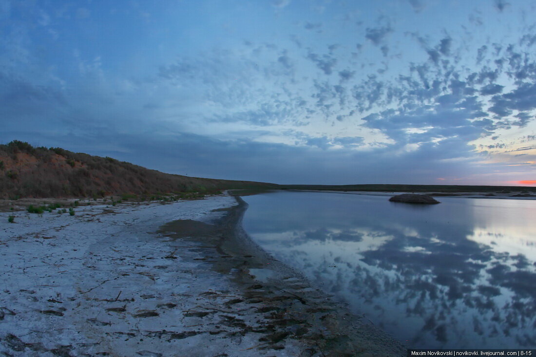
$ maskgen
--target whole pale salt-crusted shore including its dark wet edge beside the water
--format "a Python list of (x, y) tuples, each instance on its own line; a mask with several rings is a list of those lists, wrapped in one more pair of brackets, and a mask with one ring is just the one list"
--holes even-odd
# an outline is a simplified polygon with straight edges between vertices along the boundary
[(258, 248), (246, 207), (215, 196), (0, 213), (0, 353), (405, 355)]

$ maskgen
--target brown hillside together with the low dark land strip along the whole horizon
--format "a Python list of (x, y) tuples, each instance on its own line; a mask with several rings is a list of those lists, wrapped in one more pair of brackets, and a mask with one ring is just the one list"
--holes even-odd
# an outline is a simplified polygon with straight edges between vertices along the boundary
[[(203, 197), (221, 190), (234, 189), (237, 195), (256, 194), (270, 189), (336, 190), (383, 192), (495, 192), (527, 196), (536, 194), (534, 187), (472, 185), (279, 185), (254, 181), (217, 180), (172, 175), (150, 170), (130, 162), (109, 157), (74, 153), (59, 147), (33, 147), (13, 140), (0, 145), (0, 199), (24, 197), (114, 196), (111, 204), (121, 200), (176, 200)], [(490, 195), (493, 195), (490, 193)], [(40, 207), (36, 209), (39, 210)], [(49, 209), (50, 207), (47, 207)]]

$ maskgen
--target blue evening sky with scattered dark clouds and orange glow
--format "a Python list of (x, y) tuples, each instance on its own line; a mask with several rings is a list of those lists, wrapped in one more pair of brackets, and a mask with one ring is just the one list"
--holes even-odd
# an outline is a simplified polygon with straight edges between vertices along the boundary
[(281, 184), (536, 184), (536, 3), (0, 0), (0, 142)]

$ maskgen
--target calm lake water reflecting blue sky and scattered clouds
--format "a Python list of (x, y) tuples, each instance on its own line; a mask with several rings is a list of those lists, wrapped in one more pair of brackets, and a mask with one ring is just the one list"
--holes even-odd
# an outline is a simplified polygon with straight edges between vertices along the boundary
[(244, 229), (416, 348), (536, 347), (536, 201), (275, 192)]

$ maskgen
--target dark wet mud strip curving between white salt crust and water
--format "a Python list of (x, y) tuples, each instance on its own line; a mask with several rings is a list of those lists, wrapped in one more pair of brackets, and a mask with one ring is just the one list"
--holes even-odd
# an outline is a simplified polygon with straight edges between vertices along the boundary
[[(300, 271), (260, 248), (242, 227), (248, 204), (238, 196), (235, 199), (238, 204), (226, 209), (225, 217), (213, 225), (200, 227), (199, 222), (179, 220), (162, 226), (160, 232), (213, 247), (202, 248), (202, 254), (213, 259), (212, 269), (236, 284), (243, 302), (256, 306), (250, 317), (259, 324), (245, 326), (242, 333), (263, 334), (258, 348), (301, 345), (298, 348), (309, 356), (406, 355), (399, 341), (352, 315), (343, 304), (312, 287)], [(190, 234), (185, 236), (185, 228), (192, 225), (198, 226), (197, 233), (186, 229)]]

